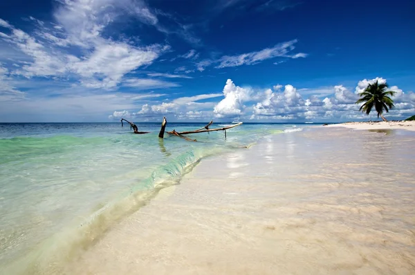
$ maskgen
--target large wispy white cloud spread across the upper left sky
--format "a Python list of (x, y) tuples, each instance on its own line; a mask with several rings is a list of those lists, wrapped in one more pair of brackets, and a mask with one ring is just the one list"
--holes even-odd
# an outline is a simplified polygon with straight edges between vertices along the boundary
[[(130, 0), (64, 1), (54, 13), (59, 28), (41, 27), (34, 33), (37, 38), (7, 25), (11, 34), (0, 38), (32, 58), (32, 62), (13, 73), (27, 78), (66, 78), (68, 74), (75, 74), (85, 87), (115, 88), (124, 75), (151, 64), (161, 53), (169, 50), (169, 46), (138, 47), (102, 37), (104, 28), (126, 7), (129, 7), (129, 12), (135, 12), (134, 15), (150, 20), (148, 9), (142, 5), (140, 1)], [(2, 24), (6, 26), (4, 22)], [(78, 46), (86, 54), (76, 57), (59, 48), (68, 45)]]

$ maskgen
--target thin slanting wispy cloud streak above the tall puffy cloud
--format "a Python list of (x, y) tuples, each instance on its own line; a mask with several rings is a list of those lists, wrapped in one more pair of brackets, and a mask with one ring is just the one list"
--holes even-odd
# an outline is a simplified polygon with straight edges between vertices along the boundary
[(225, 55), (219, 59), (220, 64), (216, 68), (225, 68), (231, 66), (241, 66), (243, 64), (251, 65), (257, 64), (258, 62), (268, 60), (275, 57), (306, 57), (305, 53), (297, 53), (295, 55), (289, 55), (294, 50), (294, 44), (297, 43), (297, 39), (279, 43), (273, 48), (264, 48), (261, 51), (254, 51), (251, 53), (243, 53), (241, 55)]

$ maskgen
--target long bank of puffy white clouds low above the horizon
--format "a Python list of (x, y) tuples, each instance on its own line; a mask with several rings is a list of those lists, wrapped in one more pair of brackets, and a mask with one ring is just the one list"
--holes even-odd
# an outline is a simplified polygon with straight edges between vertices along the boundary
[[(370, 82), (372, 80), (362, 80)], [(357, 89), (361, 83), (358, 82)], [(241, 116), (245, 121), (351, 121), (367, 119), (356, 105), (358, 95), (343, 85), (317, 89), (297, 89), (293, 85), (275, 85), (273, 89), (239, 87), (227, 80), (222, 94), (183, 97), (171, 102), (143, 105), (137, 115), (163, 116), (170, 114), (177, 119), (204, 119), (212, 116), (228, 119)], [(398, 87), (391, 87), (396, 91)], [(401, 90), (400, 90), (401, 91)], [(205, 98), (224, 96), (219, 102), (199, 103)], [(415, 113), (415, 94), (403, 91), (396, 98), (389, 118), (406, 118)], [(211, 109), (209, 109), (211, 108)]]

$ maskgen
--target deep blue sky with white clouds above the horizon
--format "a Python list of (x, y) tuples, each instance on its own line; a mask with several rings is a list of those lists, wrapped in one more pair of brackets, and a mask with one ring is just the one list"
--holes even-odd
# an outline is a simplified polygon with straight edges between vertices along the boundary
[(301, 123), (415, 114), (414, 1), (0, 1), (0, 122)]

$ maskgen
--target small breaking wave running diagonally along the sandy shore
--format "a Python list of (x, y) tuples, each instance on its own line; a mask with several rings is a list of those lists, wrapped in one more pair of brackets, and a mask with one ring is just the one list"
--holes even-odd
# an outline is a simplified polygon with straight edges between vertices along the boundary
[(16, 258), (4, 267), (5, 274), (62, 274), (69, 260), (100, 240), (114, 224), (145, 206), (163, 188), (179, 184), (183, 175), (190, 172), (201, 159), (220, 152), (219, 148), (209, 151), (190, 149), (156, 167), (149, 177), (102, 205), (78, 226), (72, 224), (73, 227), (55, 233), (32, 251)]

